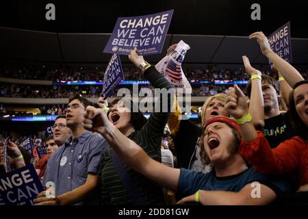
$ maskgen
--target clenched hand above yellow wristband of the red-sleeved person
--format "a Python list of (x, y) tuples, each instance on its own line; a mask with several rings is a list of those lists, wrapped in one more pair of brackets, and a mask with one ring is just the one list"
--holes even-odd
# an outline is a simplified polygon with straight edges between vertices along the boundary
[(234, 88), (229, 88), (224, 109), (226, 109), (234, 118), (242, 118), (248, 114), (246, 96), (236, 84), (234, 85)]

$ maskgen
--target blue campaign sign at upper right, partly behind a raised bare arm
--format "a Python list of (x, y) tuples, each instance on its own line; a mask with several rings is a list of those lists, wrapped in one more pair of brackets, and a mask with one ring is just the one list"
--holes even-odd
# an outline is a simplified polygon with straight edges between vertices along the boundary
[(268, 36), (270, 48), (287, 62), (292, 62), (290, 21)]

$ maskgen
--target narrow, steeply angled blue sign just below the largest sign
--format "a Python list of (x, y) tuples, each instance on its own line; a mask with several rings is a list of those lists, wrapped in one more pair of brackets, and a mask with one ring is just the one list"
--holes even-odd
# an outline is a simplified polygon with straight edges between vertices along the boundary
[(120, 55), (112, 55), (110, 62), (105, 70), (103, 95), (105, 98), (112, 94), (112, 91), (120, 81), (124, 79), (123, 68), (121, 65)]

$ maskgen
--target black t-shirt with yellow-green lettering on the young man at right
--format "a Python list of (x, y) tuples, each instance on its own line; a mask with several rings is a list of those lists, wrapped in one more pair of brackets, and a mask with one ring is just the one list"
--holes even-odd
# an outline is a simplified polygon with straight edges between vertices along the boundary
[(281, 142), (292, 138), (294, 134), (291, 130), (289, 113), (286, 112), (264, 120), (262, 133), (272, 149), (276, 148)]

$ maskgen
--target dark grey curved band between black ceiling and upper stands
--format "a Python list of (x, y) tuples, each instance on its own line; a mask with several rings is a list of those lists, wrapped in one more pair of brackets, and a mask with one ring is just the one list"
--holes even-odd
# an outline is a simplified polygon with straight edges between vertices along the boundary
[[(0, 27), (0, 58), (59, 64), (107, 63), (111, 54), (103, 53), (110, 34), (73, 34), (29, 31)], [(187, 64), (242, 64), (247, 55), (253, 64), (268, 64), (259, 44), (245, 36), (207, 36), (168, 34), (162, 54), (171, 44), (183, 40), (191, 49), (185, 57)], [(308, 38), (292, 38), (293, 64), (308, 64)], [(149, 55), (155, 63), (163, 55)], [(123, 63), (130, 63), (121, 55)]]

